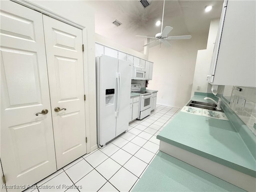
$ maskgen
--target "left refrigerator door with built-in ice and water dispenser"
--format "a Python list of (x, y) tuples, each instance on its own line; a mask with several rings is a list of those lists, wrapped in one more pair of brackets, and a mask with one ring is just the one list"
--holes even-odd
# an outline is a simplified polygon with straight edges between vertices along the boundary
[[(116, 93), (118, 59), (102, 55), (97, 58), (97, 134), (98, 145), (116, 137)], [(106, 94), (107, 89), (114, 89), (114, 94)], [(130, 94), (128, 94), (130, 96)]]

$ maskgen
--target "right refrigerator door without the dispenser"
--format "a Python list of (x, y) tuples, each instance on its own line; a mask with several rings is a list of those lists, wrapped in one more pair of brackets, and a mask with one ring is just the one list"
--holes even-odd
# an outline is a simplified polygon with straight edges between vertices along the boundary
[(120, 74), (120, 104), (116, 118), (116, 136), (128, 130), (130, 116), (132, 62), (118, 60), (118, 73)]

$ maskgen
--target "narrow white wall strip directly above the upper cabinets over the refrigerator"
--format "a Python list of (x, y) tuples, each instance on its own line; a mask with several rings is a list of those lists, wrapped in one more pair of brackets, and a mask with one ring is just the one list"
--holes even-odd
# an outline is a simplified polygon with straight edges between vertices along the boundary
[(100, 43), (102, 45), (105, 45), (105, 46), (108, 46), (110, 48), (113, 48), (113, 49), (116, 49), (116, 50), (120, 50), (122, 52), (125, 52), (125, 53), (128, 53), (130, 55), (133, 55), (133, 56), (136, 56), (138, 58), (142, 58), (142, 59), (145, 59), (145, 60), (148, 60), (148, 56), (144, 55), (143, 53), (141, 52), (138, 52), (136, 50), (133, 50), (131, 48), (127, 48), (125, 46), (122, 46), (121, 44), (118, 44), (116, 42), (113, 42), (112, 40), (100, 35), (100, 34), (97, 34), (95, 33), (95, 41), (97, 43)]

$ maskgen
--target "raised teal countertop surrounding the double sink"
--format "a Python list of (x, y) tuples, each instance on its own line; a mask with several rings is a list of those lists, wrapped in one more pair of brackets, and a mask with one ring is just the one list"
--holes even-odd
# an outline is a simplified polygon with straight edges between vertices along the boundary
[[(206, 102), (204, 97), (191, 99)], [(157, 138), (256, 177), (256, 160), (230, 121), (179, 112)]]

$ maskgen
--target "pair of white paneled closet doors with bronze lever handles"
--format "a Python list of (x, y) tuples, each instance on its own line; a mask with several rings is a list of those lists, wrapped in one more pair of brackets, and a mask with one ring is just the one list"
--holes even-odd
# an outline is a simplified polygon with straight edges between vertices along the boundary
[(10, 1), (0, 16), (2, 170), (34, 184), (86, 154), (82, 30)]

